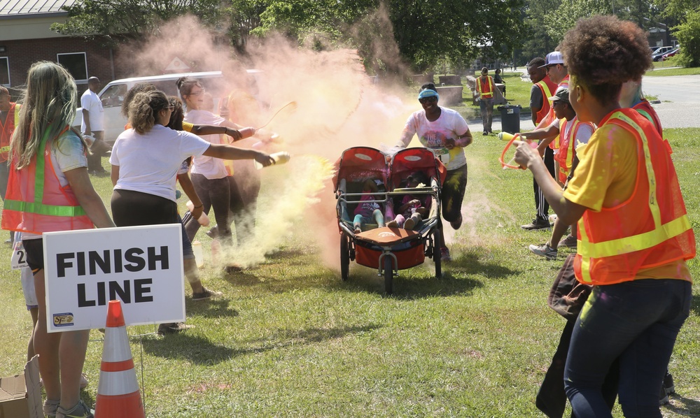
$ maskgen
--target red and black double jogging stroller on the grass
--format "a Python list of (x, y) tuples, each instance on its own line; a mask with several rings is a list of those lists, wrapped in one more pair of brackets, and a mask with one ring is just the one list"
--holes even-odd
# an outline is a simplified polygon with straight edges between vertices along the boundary
[[(409, 175), (421, 172), (429, 184), (405, 187)], [(349, 278), (350, 261), (360, 266), (377, 268), (384, 276), (386, 293), (393, 291), (393, 278), (399, 270), (423, 264), (426, 257), (435, 263), (435, 277), (442, 276), (440, 261), (440, 187), (446, 171), (440, 159), (424, 147), (406, 148), (393, 155), (386, 155), (371, 147), (352, 147), (345, 150), (336, 161), (333, 186), (337, 199), (336, 210), (340, 233), (340, 274)], [(362, 231), (353, 226), (353, 212), (360, 202), (363, 185), (374, 180), (377, 192), (369, 193), (384, 212), (392, 213), (407, 194), (428, 196), (428, 215), (412, 229), (379, 227), (364, 224)], [(425, 197), (423, 197), (425, 199)], [(386, 210), (386, 208), (390, 210)], [(387, 221), (391, 219), (386, 219)]]

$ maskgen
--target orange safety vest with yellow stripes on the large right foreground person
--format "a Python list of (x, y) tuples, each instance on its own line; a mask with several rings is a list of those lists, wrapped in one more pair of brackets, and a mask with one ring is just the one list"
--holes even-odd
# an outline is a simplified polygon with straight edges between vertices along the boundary
[(603, 118), (603, 124), (616, 124), (635, 136), (636, 184), (624, 203), (600, 212), (586, 210), (579, 220), (577, 280), (627, 282), (635, 279), (640, 268), (695, 257), (695, 235), (664, 140), (630, 108), (615, 110)]

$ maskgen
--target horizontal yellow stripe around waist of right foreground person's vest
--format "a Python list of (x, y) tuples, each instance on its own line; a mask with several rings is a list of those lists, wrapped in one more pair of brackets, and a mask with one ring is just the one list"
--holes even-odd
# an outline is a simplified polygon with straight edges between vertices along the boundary
[(654, 245), (659, 245), (669, 238), (679, 236), (690, 228), (690, 221), (687, 215), (682, 215), (652, 231), (638, 233), (635, 236), (626, 238), (617, 238), (616, 240), (603, 241), (602, 243), (590, 243), (583, 236), (578, 241), (577, 252), (582, 257), (594, 259), (629, 254), (630, 252), (647, 250), (654, 247)]

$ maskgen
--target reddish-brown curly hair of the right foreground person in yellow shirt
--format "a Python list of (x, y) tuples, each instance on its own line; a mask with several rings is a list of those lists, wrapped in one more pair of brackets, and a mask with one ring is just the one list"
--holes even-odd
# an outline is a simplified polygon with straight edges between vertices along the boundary
[(638, 80), (652, 64), (645, 31), (615, 16), (579, 20), (561, 52), (575, 82), (603, 104), (617, 101), (622, 83)]

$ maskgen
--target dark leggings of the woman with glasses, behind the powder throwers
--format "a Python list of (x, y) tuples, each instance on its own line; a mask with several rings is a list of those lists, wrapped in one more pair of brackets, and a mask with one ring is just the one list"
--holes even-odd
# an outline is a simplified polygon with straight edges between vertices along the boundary
[[(193, 174), (192, 184), (200, 196), (204, 213), (209, 215), (209, 210), (214, 209), (214, 219), (218, 228), (218, 239), (224, 245), (232, 244), (231, 224), (228, 219), (230, 209), (231, 192), (228, 178), (208, 179), (201, 174)], [(185, 229), (190, 241), (195, 238), (195, 234), (200, 229), (199, 222), (187, 222)]]

